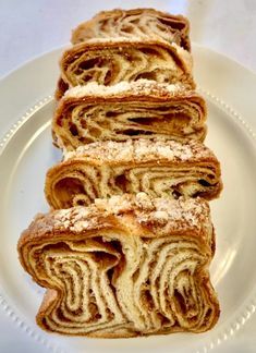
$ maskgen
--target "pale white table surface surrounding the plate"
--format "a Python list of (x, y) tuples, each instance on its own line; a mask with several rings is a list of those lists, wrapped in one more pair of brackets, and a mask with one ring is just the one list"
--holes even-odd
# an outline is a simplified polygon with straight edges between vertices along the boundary
[[(187, 15), (193, 41), (224, 53), (256, 72), (255, 0), (0, 0), (0, 77), (27, 60), (66, 45), (71, 28), (97, 11), (138, 7)], [(256, 315), (235, 339), (215, 352), (256, 352), (255, 331)], [(0, 352), (31, 353), (45, 352), (45, 349), (16, 328), (0, 308)]]

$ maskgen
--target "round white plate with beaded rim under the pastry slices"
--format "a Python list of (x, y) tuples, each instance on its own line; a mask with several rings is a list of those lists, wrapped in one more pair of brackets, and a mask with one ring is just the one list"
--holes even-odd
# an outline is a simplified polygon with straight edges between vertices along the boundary
[(0, 141), (1, 302), (24, 334), (33, 336), (51, 351), (143, 353), (186, 348), (187, 352), (206, 352), (215, 348), (245, 322), (256, 299), (256, 142), (245, 122), (254, 113), (255, 76), (220, 54), (194, 47), (195, 76), (209, 110), (206, 144), (221, 161), (224, 183), (221, 198), (211, 203), (217, 230), (211, 279), (222, 308), (216, 328), (202, 334), (147, 339), (69, 338), (45, 333), (35, 326), (44, 291), (24, 273), (16, 254), (21, 231), (36, 212), (48, 209), (45, 174), (61, 157), (51, 144), (54, 104), (49, 97), (58, 76), (59, 56), (60, 50), (56, 50), (36, 59), (0, 84), (0, 127), (7, 132)]

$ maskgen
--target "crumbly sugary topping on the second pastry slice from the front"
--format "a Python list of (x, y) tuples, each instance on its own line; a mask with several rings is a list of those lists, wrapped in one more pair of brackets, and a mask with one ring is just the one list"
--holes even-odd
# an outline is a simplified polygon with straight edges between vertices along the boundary
[(89, 158), (109, 162), (162, 160), (187, 161), (204, 158), (215, 159), (214, 153), (203, 143), (188, 141), (185, 143), (166, 138), (138, 138), (124, 142), (96, 142), (80, 146), (75, 151), (68, 151), (64, 160), (72, 158)]

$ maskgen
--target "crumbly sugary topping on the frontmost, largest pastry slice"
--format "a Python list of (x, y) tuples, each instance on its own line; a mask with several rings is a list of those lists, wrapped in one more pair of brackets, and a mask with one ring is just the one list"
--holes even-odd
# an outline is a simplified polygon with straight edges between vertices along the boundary
[[(83, 207), (54, 210), (46, 217), (52, 219), (53, 229), (73, 232), (97, 229), (99, 220), (110, 215), (122, 216), (133, 212), (145, 226), (168, 226), (169, 230), (211, 228), (209, 206), (200, 198), (153, 198), (146, 193), (117, 195), (109, 199), (98, 198), (95, 204)], [(44, 217), (39, 220), (42, 220)]]

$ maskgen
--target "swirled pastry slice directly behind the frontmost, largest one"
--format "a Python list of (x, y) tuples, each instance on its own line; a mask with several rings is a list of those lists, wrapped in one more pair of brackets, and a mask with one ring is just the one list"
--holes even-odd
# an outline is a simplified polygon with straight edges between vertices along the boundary
[(202, 143), (130, 139), (94, 143), (66, 154), (48, 171), (45, 193), (51, 207), (69, 208), (138, 192), (212, 199), (221, 187), (219, 161)]

